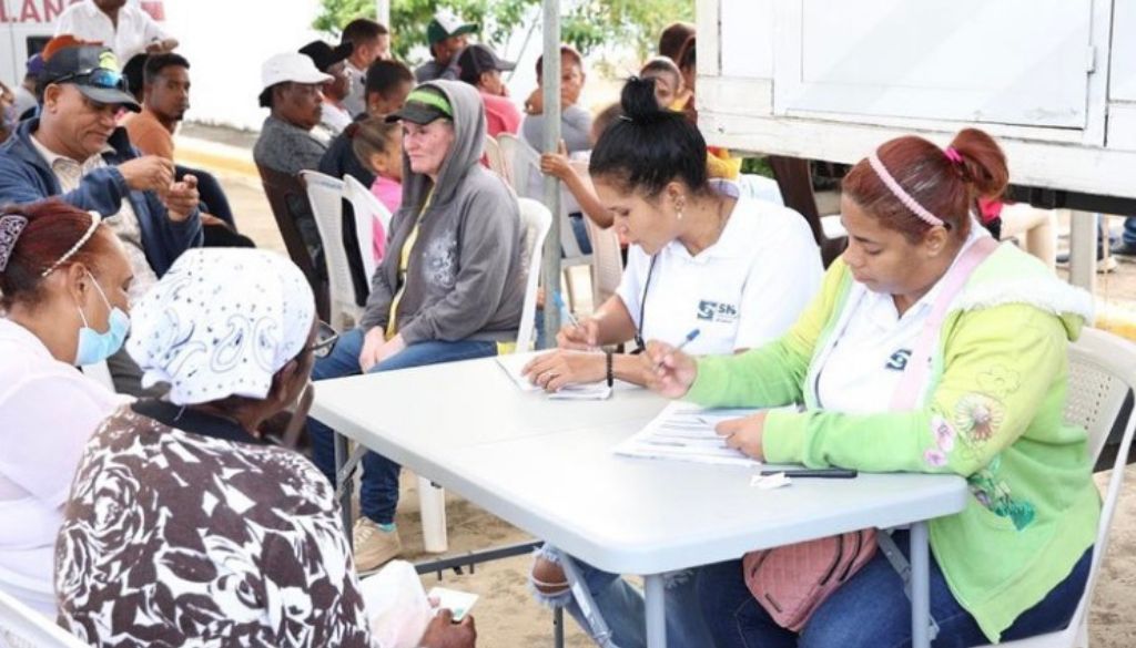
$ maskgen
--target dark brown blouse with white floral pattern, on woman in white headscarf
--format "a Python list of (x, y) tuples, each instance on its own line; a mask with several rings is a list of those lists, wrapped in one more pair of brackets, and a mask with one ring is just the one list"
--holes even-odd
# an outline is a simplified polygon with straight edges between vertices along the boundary
[(327, 480), (225, 419), (119, 410), (64, 517), (60, 622), (94, 646), (371, 645)]

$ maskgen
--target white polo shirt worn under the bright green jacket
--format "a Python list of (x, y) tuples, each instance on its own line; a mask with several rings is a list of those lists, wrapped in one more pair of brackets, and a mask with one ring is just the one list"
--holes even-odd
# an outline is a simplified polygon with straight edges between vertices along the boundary
[[(951, 268), (983, 236), (989, 233), (977, 222), (971, 224), (970, 235)], [(846, 323), (830, 348), (821, 354), (820, 369), (812, 380), (817, 399), (821, 407), (833, 412), (886, 412), (924, 323), (943, 292), (943, 279), (902, 317), (892, 295), (874, 293), (854, 280), (850, 291), (837, 327)]]

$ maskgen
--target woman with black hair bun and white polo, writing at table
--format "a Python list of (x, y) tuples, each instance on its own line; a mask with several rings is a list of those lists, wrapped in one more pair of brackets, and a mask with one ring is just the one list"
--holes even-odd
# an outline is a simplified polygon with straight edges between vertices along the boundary
[[(615, 296), (578, 327), (557, 337), (560, 348), (526, 367), (545, 389), (605, 377), (646, 382), (643, 362), (594, 351), (635, 339), (682, 342), (695, 355), (730, 354), (777, 339), (820, 287), (820, 253), (804, 219), (784, 207), (738, 197), (734, 185), (707, 178), (705, 141), (679, 112), (660, 109), (653, 79), (624, 89), (625, 118), (596, 143), (588, 171), (619, 233), (633, 243)], [(565, 605), (587, 628), (567, 591), (557, 556), (534, 565), (536, 596)], [(643, 599), (618, 574), (576, 561), (620, 648), (645, 646)], [(668, 580), (670, 646), (709, 646), (690, 573)]]

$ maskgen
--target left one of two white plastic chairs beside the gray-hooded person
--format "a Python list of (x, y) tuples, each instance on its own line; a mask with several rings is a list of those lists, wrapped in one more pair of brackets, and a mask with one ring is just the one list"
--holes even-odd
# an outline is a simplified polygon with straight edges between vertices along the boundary
[(332, 302), (332, 321), (327, 323), (335, 330), (346, 330), (362, 317), (362, 309), (356, 304), (354, 281), (351, 279), (351, 267), (343, 247), (343, 180), (308, 169), (300, 171), (300, 177), (307, 187), (319, 238), (324, 242), (324, 261), (327, 264)]

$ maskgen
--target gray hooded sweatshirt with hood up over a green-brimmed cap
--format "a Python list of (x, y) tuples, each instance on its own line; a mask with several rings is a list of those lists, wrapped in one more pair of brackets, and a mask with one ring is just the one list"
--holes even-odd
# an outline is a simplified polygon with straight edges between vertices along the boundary
[[(408, 344), (517, 337), (525, 300), (520, 213), (512, 191), (479, 163), (485, 109), (474, 86), (457, 81), (424, 84), (445, 94), (453, 109), (454, 141), (437, 187), (421, 214), (406, 286), (395, 313)], [(402, 154), (402, 207), (391, 220), (386, 255), (371, 278), (360, 326), (386, 327), (399, 292), (402, 244), (419, 219), (433, 182), (410, 170)]]

